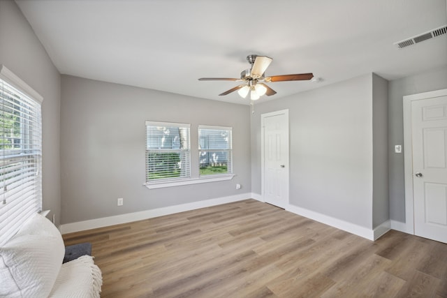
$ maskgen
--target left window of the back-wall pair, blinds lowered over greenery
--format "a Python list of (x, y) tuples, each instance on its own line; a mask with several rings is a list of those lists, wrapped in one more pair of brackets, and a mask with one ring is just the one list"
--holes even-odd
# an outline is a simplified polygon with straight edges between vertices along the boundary
[(146, 183), (189, 179), (189, 124), (146, 121)]

